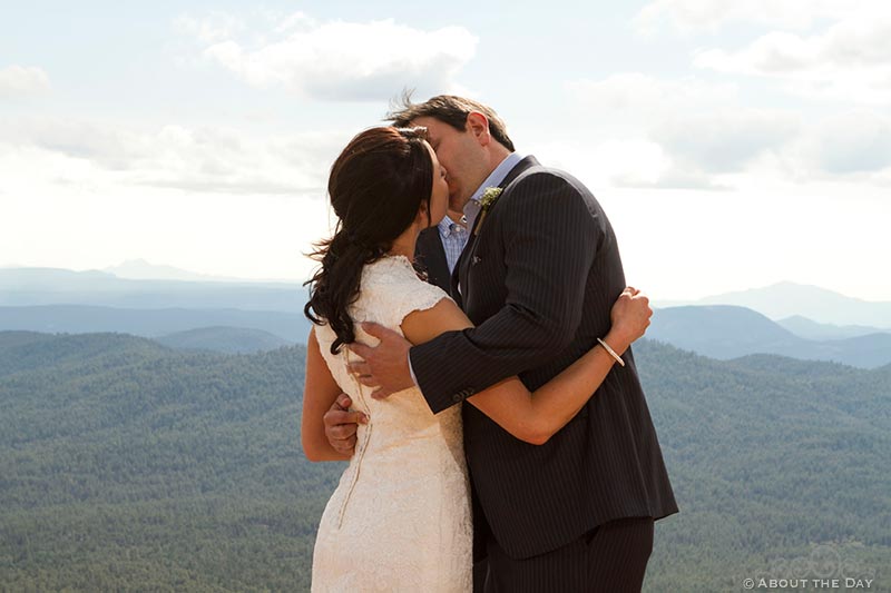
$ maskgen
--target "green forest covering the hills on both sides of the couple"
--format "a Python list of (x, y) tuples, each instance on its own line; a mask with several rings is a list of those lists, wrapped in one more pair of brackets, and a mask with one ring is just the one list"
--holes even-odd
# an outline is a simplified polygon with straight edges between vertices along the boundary
[[(304, 355), (0, 333), (0, 591), (307, 591), (343, 466), (301, 453)], [(635, 356), (681, 506), (645, 591), (891, 590), (891, 366)]]

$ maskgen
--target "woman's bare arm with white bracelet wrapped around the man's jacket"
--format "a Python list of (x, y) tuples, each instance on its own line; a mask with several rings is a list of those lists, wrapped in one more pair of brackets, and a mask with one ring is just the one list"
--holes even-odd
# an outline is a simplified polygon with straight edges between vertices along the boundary
[[(621, 355), (644, 335), (650, 315), (645, 296), (623, 293), (614, 306), (614, 325), (604, 342)], [(431, 309), (413, 312), (402, 322), (402, 332), (412, 344), (468, 327), (472, 327), (470, 320), (449, 299)], [(541, 445), (578, 414), (614, 364), (615, 359), (598, 344), (533, 393), (519, 378), (510, 377), (469, 397), (468, 402), (517, 438)]]

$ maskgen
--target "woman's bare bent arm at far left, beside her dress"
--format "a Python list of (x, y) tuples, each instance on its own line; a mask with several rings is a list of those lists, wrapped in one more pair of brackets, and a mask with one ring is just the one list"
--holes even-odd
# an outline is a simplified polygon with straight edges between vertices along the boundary
[(315, 328), (310, 330), (306, 344), (306, 383), (303, 387), (303, 416), (301, 418), (301, 441), (303, 453), (311, 462), (347, 461), (350, 455), (339, 453), (325, 436), (323, 417), (331, 408), (342, 389), (331, 376)]

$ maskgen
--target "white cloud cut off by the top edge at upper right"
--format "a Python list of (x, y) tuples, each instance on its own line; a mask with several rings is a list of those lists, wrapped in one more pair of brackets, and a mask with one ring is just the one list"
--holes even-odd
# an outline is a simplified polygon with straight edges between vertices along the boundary
[(804, 30), (824, 19), (839, 19), (882, 0), (655, 0), (634, 19), (639, 33), (670, 27), (682, 33), (716, 33), (733, 23), (755, 23)]

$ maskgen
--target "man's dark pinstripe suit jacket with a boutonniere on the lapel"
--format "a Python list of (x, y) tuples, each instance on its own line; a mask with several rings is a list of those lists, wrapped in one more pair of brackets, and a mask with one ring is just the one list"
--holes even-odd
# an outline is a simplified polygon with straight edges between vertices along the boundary
[[(519, 375), (536, 389), (596, 345), (625, 288), (613, 228), (588, 189), (532, 157), (520, 161), (471, 234), (453, 287), (477, 326), (411, 349), (440, 412)], [(464, 447), (483, 516), (517, 559), (556, 550), (621, 517), (677, 512), (630, 349), (545, 445), (523, 443), (463, 406)], [(443, 368), (460, 372), (442, 373)]]

